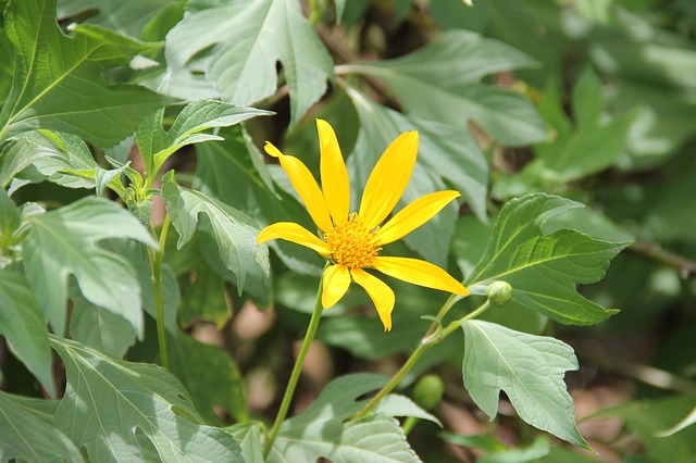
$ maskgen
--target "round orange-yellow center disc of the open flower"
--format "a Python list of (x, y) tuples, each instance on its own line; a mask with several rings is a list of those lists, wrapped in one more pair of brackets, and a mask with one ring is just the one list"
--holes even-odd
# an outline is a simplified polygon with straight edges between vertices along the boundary
[(357, 213), (350, 214), (348, 221), (324, 235), (332, 261), (348, 268), (372, 266), (373, 259), (382, 249), (374, 232), (376, 228), (369, 230)]

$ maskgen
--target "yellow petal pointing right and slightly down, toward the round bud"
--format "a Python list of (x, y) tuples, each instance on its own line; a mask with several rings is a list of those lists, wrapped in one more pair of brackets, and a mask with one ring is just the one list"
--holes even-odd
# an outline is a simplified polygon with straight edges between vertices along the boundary
[(385, 275), (413, 285), (461, 296), (469, 293), (469, 289), (443, 268), (420, 259), (377, 256), (374, 258), (373, 265)]

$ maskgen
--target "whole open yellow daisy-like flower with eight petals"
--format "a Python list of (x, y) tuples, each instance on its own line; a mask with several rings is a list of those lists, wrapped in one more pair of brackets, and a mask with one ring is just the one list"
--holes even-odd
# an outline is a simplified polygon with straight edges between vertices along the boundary
[(469, 290), (461, 283), (437, 265), (419, 259), (378, 255), (383, 246), (413, 232), (460, 196), (458, 191), (426, 195), (401, 209), (381, 226), (396, 207), (413, 172), (418, 155), (418, 132), (401, 134), (389, 145), (370, 174), (360, 209), (357, 213), (350, 213), (348, 171), (336, 134), (322, 120), (316, 121), (316, 129), (321, 150), (321, 189), (299, 159), (283, 154), (268, 141), (265, 151), (281, 161), (281, 166), (319, 227), (321, 238), (299, 224), (278, 222), (261, 230), (259, 243), (285, 239), (328, 259), (333, 265), (324, 271), (324, 309), (335, 305), (352, 280), (365, 289), (387, 331), (391, 329), (394, 291), (365, 268), (374, 268), (414, 285), (468, 295)]

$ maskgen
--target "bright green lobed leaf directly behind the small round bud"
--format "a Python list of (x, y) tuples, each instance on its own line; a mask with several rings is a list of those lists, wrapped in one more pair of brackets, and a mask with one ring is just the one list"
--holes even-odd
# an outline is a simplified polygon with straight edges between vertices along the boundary
[(575, 285), (601, 279), (629, 242), (596, 240), (572, 229), (542, 232), (550, 217), (581, 205), (544, 193), (509, 201), (465, 280), (472, 293), (483, 295), (490, 283), (505, 280), (513, 290), (506, 310), (524, 306), (564, 324), (591, 325), (616, 313), (582, 297)]

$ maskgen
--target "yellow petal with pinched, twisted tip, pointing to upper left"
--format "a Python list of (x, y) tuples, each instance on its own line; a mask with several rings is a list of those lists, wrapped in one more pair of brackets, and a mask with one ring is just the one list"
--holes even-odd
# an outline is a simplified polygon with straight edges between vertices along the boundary
[(274, 147), (270, 141), (266, 141), (265, 147), (263, 148), (266, 153), (281, 161), (281, 166), (287, 176), (290, 177), (290, 183), (300, 198), (302, 198), (302, 201), (307, 207), (307, 211), (309, 212), (309, 215), (312, 216), (316, 226), (322, 232), (328, 232), (332, 228), (332, 223), (331, 215), (328, 214), (328, 208), (326, 207), (326, 200), (324, 199), (322, 191), (319, 189), (319, 185), (316, 185), (316, 180), (314, 180), (312, 173), (309, 172), (309, 168), (307, 168), (299, 159), (283, 154), (281, 150)]

